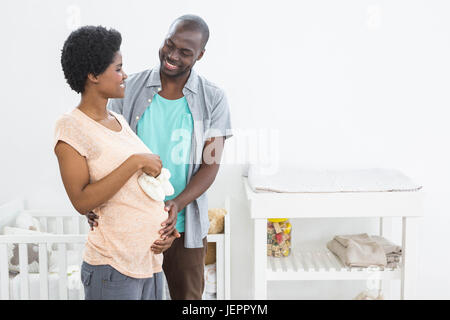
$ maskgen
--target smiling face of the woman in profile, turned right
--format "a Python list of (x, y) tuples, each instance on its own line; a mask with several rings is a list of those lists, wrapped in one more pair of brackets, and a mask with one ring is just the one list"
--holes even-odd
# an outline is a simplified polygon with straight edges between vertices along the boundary
[(102, 74), (97, 76), (97, 90), (105, 98), (123, 98), (125, 95), (125, 82), (128, 78), (122, 69), (122, 54), (117, 51), (113, 62)]

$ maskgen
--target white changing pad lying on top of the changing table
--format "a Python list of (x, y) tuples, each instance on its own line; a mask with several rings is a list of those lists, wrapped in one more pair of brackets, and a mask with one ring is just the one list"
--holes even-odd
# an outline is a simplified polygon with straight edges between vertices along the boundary
[(254, 192), (330, 193), (418, 191), (407, 176), (390, 169), (317, 170), (283, 166), (274, 175), (264, 175), (250, 166), (248, 182)]

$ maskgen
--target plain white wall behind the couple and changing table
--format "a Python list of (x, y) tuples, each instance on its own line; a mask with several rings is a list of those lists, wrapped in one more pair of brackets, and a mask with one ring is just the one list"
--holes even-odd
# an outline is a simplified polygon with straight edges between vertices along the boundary
[[(195, 13), (211, 31), (196, 68), (225, 88), (237, 129), (210, 190), (212, 206), (225, 194), (233, 201), (232, 298), (251, 294), (251, 229), (238, 143), (249, 132), (260, 133), (258, 147), (273, 161), (390, 167), (424, 185), (419, 297), (450, 298), (449, 2), (20, 0), (1, 7), (0, 203), (24, 194), (31, 207), (70, 208), (52, 136), (55, 119), (78, 102), (60, 67), (72, 28), (119, 30), (124, 68), (133, 73), (158, 62), (174, 18)], [(295, 227), (305, 239), (316, 239), (370, 232), (376, 223), (307, 221)], [(269, 298), (348, 299), (363, 288), (274, 283)]]

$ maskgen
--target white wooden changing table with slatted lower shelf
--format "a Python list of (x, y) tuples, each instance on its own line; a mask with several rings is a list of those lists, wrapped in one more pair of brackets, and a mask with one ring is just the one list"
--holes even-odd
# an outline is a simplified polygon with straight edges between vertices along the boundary
[[(414, 299), (417, 278), (418, 219), (423, 214), (422, 192), (254, 192), (243, 178), (253, 222), (254, 299), (267, 299), (267, 281), (401, 280), (401, 298)], [(288, 257), (267, 256), (268, 218), (383, 218), (402, 217), (403, 256), (399, 267), (349, 268), (327, 249), (293, 245)]]

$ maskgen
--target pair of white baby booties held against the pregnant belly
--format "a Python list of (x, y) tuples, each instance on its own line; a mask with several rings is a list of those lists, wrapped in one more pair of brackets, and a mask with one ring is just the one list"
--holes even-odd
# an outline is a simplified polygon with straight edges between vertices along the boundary
[(164, 201), (166, 196), (171, 196), (175, 193), (169, 179), (170, 171), (166, 168), (162, 168), (161, 173), (157, 178), (143, 173), (138, 178), (138, 183), (150, 198), (156, 201)]

